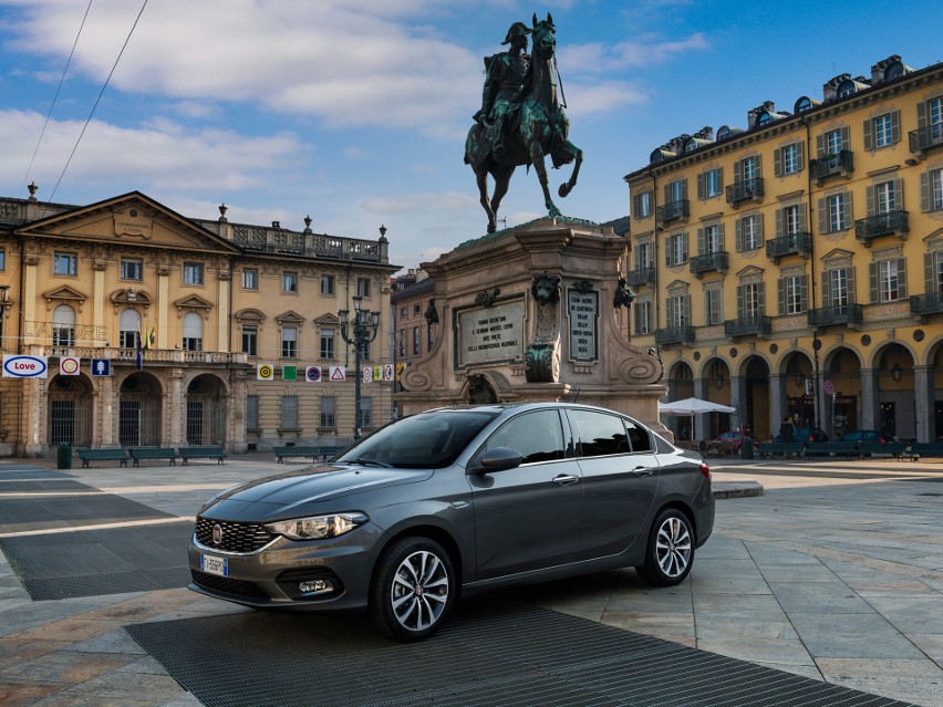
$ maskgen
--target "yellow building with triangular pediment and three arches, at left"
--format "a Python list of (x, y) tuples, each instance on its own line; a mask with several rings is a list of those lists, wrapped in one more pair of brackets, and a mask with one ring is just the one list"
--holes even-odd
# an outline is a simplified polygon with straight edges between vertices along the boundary
[(377, 323), (361, 429), (388, 422), (385, 229), (359, 240), (310, 218), (230, 223), (225, 206), (190, 219), (137, 191), (81, 207), (35, 191), (0, 199), (0, 453), (345, 440), (363, 374), (339, 312), (356, 308)]

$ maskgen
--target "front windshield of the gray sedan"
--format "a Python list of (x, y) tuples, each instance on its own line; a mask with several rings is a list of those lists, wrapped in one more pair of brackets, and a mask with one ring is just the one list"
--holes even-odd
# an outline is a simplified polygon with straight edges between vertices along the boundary
[(377, 429), (334, 461), (435, 469), (450, 465), (497, 413), (431, 410)]

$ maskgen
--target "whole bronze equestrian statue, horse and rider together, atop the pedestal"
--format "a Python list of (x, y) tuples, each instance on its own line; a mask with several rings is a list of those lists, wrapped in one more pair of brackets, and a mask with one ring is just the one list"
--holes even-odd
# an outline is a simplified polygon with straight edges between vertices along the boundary
[[(533, 38), (533, 52), (527, 56), (527, 35)], [(582, 150), (568, 135), (570, 121), (557, 97), (556, 73), (557, 29), (550, 13), (532, 27), (515, 22), (502, 44), (509, 51), (485, 58), (485, 90), (481, 110), (465, 141), (465, 163), (472, 165), (478, 183), (481, 206), (488, 214), (488, 232), (497, 230), (497, 212), (507, 194), (511, 175), (518, 165), (533, 165), (543, 189), (543, 204), (551, 217), (560, 209), (550, 198), (543, 158), (550, 155), (553, 168), (576, 159), (570, 180), (560, 185), (558, 194), (566, 197), (574, 186), (583, 160)], [(561, 92), (562, 94), (562, 92)], [(495, 180), (495, 191), (488, 197), (488, 175)]]

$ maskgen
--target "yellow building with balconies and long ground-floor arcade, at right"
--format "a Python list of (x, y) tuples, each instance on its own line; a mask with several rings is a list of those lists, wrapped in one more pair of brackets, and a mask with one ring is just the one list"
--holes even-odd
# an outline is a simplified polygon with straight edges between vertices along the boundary
[(636, 344), (670, 399), (733, 405), (675, 422), (704, 439), (780, 420), (943, 435), (943, 64), (890, 56), (821, 100), (771, 102), (625, 176)]

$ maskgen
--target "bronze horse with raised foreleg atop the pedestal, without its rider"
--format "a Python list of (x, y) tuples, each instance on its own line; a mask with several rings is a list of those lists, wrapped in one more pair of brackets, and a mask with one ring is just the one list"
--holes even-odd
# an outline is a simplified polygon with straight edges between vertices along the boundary
[[(566, 197), (574, 186), (583, 160), (582, 150), (567, 137), (570, 121), (563, 113), (563, 106), (557, 98), (557, 83), (553, 80), (553, 56), (557, 50), (557, 29), (550, 13), (546, 20), (537, 21), (533, 15), (533, 50), (530, 66), (524, 85), (518, 94), (519, 101), (506, 122), (508, 135), (505, 137), (506, 152), (500, 157), (494, 154), (488, 129), (477, 123), (468, 131), (465, 141), (465, 163), (472, 165), (478, 183), (481, 206), (488, 214), (488, 232), (497, 229), (497, 214), (501, 199), (508, 191), (511, 175), (518, 165), (531, 165), (537, 170), (540, 187), (543, 189), (543, 204), (551, 217), (560, 216), (560, 209), (550, 198), (547, 186), (547, 167), (543, 158), (550, 155), (553, 168), (568, 165), (576, 159), (570, 180), (560, 185), (558, 194)], [(488, 198), (488, 175), (495, 180), (495, 193)]]

